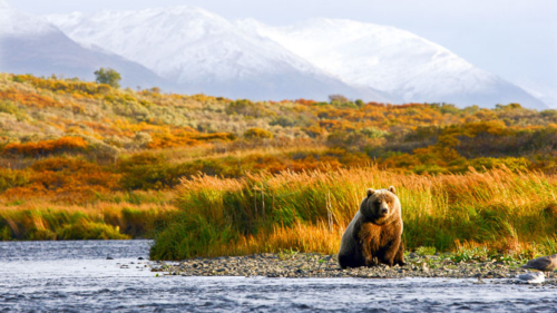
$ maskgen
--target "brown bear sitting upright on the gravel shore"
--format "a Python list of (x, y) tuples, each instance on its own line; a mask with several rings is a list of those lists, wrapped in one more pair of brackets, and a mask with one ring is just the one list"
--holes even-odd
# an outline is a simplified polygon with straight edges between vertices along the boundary
[(360, 211), (342, 235), (339, 264), (342, 268), (380, 263), (404, 265), (402, 227), (400, 200), (394, 187), (368, 189)]

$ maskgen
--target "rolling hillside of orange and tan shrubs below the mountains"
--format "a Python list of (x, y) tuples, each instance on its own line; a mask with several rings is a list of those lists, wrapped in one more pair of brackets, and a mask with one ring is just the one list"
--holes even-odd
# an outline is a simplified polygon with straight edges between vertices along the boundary
[[(13, 168), (28, 166), (28, 158), (59, 155), (33, 148), (33, 143), (60, 138), (87, 146), (61, 149), (62, 155), (89, 162), (114, 164), (148, 150), (169, 156), (170, 163), (197, 162), (183, 167), (193, 166), (185, 173), (196, 173), (201, 166), (202, 172), (234, 177), (246, 170), (372, 160), (414, 173), (466, 172), (468, 166), (481, 169), (498, 163), (553, 172), (555, 164), (557, 113), (518, 104), (496, 109), (397, 106), (351, 101), (341, 95), (332, 95), (328, 102), (231, 100), (9, 74), (0, 84), (2, 156)], [(275, 153), (258, 153), (262, 158), (234, 166), (241, 158), (235, 153), (260, 147)], [(314, 151), (294, 153), (297, 148)], [(199, 155), (222, 159), (208, 166)], [(223, 165), (227, 163), (231, 168)]]

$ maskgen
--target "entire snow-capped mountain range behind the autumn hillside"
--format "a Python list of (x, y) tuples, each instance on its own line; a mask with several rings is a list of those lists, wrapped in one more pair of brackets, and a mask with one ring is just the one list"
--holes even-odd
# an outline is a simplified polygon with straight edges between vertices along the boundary
[(46, 19), (0, 0), (0, 70), (90, 80), (95, 69), (113, 67), (125, 86), (229, 98), (324, 100), (343, 94), (399, 104), (547, 108), (448, 49), (393, 27), (314, 19), (273, 28), (254, 20), (232, 23), (189, 6)]

